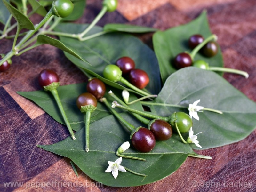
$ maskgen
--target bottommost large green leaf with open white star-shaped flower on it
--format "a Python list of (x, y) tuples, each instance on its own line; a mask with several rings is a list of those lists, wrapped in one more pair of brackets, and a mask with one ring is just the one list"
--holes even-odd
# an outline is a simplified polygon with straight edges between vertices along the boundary
[[(127, 118), (125, 113), (121, 115), (133, 125), (141, 125), (133, 118)], [(89, 152), (85, 152), (84, 134), (82, 129), (75, 134), (76, 140), (67, 138), (53, 145), (38, 147), (70, 158), (93, 180), (115, 187), (139, 186), (161, 180), (176, 171), (188, 155), (194, 153), (188, 144), (180, 142), (177, 135), (173, 135), (166, 141), (157, 141), (155, 148), (149, 153), (140, 153), (131, 146), (123, 153), (124, 155), (145, 158), (147, 161), (122, 158), (121, 165), (147, 176), (119, 172), (115, 179), (111, 172), (107, 173), (105, 170), (108, 168), (108, 161), (119, 158), (116, 156), (116, 150), (125, 141), (130, 141), (130, 132), (123, 128), (112, 115), (102, 118), (90, 125)]]

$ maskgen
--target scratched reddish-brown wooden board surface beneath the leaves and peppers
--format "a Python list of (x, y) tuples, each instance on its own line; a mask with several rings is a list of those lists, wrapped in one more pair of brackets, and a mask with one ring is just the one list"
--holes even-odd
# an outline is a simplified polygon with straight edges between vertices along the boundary
[[(101, 0), (88, 0), (83, 18), (90, 22), (101, 9)], [(210, 27), (219, 37), (225, 67), (247, 71), (248, 79), (225, 74), (232, 85), (256, 101), (256, 1), (255, 0), (119, 0), (118, 9), (98, 23), (129, 23), (161, 30), (185, 24), (207, 9)], [(33, 22), (40, 20), (34, 17)], [(3, 26), (0, 26), (2, 29)], [(139, 36), (152, 47), (152, 34)], [(0, 52), (12, 47), (12, 40), (0, 41)], [(84, 75), (62, 51), (42, 45), (20, 57), (13, 57), (11, 68), (0, 73), (0, 191), (35, 191), (36, 188), (4, 188), (3, 182), (93, 182), (78, 169), (73, 172), (67, 158), (57, 156), (36, 144), (52, 144), (68, 136), (67, 129), (16, 91), (39, 90), (38, 73), (51, 68), (61, 84), (85, 82)], [(43, 188), (39, 191), (256, 191), (256, 132), (228, 146), (196, 151), (212, 160), (188, 158), (172, 175), (152, 184), (130, 187)], [(203, 183), (205, 182), (205, 186)], [(237, 183), (235, 183), (237, 182)], [(245, 183), (252, 184), (251, 188)], [(235, 186), (227, 187), (229, 184)], [(215, 184), (215, 185), (214, 185)], [(240, 184), (240, 185), (239, 185)], [(193, 186), (196, 185), (196, 186)], [(242, 185), (242, 186), (241, 186)]]

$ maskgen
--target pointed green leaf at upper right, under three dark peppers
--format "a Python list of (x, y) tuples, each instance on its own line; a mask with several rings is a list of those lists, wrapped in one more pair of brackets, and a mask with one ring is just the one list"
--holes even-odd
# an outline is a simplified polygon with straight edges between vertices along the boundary
[[(201, 34), (205, 38), (212, 35), (209, 28), (206, 12), (186, 25), (181, 25), (166, 31), (157, 31), (153, 35), (153, 45), (159, 62), (162, 82), (177, 69), (173, 66), (173, 59), (177, 54), (191, 51), (188, 47), (188, 39), (195, 34)], [(212, 58), (207, 58), (197, 53), (194, 60), (205, 60), (210, 66), (223, 67), (221, 50)], [(222, 74), (222, 73), (221, 73)]]

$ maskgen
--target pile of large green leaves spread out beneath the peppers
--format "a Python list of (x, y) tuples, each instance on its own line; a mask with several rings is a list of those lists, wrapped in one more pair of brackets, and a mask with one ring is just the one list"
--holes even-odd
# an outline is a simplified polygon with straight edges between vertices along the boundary
[[(15, 2), (15, 0), (12, 0), (12, 2)], [(38, 5), (38, 2), (35, 3), (36, 1), (31, 2), (33, 1), (29, 0), (32, 7), (36, 7), (35, 4)], [(49, 5), (49, 1), (40, 0), (39, 2), (41, 3), (40, 6), (37, 6), (41, 10), (39, 14), (43, 14), (42, 7)], [(78, 4), (74, 9), (76, 14), (66, 18), (66, 21), (75, 20), (81, 16), (85, 3), (84, 1), (76, 3)], [(0, 21), (5, 23), (9, 12), (1, 4), (0, 2), (0, 12), (6, 14), (0, 15)], [(19, 8), (19, 5), (17, 7)], [(36, 10), (39, 11), (39, 8)], [(20, 11), (22, 11), (21, 8)], [(16, 16), (20, 18), (18, 12)], [(55, 31), (70, 34), (79, 33), (87, 26), (87, 24), (60, 23)], [(149, 105), (151, 112), (154, 114), (170, 116), (174, 111), (188, 113), (188, 110), (183, 107), (188, 107), (190, 103), (198, 99), (201, 99), (201, 106), (221, 110), (222, 115), (204, 111), (204, 113), (199, 114), (200, 121), (193, 120), (194, 132), (203, 132), (198, 135), (202, 149), (224, 146), (247, 137), (256, 125), (256, 104), (253, 101), (236, 90), (222, 76), (212, 71), (194, 67), (176, 71), (172, 66), (172, 60), (176, 54), (189, 50), (186, 43), (189, 36), (198, 33), (203, 36), (211, 35), (206, 12), (203, 12), (198, 18), (186, 25), (166, 31), (157, 31), (153, 35), (155, 52), (138, 38), (128, 34), (154, 31), (156, 29), (140, 26), (107, 24), (104, 28), (97, 26), (92, 28), (87, 36), (99, 33), (102, 35), (86, 41), (64, 36), (59, 36), (60, 40), (57, 40), (46, 35), (39, 35), (37, 44), (47, 43), (62, 49), (65, 56), (80, 68), (85, 75), (98, 77), (107, 84), (108, 90), (111, 89), (120, 98), (121, 91), (128, 90), (131, 92), (130, 100), (134, 100), (136, 99), (135, 95), (139, 95), (137, 92), (102, 77), (102, 71), (106, 65), (114, 64), (122, 56), (131, 57), (136, 63), (136, 68), (143, 69), (148, 73), (150, 77), (150, 83), (146, 87), (148, 91), (158, 94), (158, 97), (152, 103), (163, 104), (161, 106)], [(206, 60), (212, 66), (223, 66), (221, 51), (210, 59), (197, 54), (196, 59)], [(164, 84), (163, 87), (161, 87), (161, 84)], [(85, 152), (84, 115), (76, 107), (77, 96), (85, 91), (86, 84), (72, 84), (58, 88), (66, 115), (72, 129), (76, 131), (76, 140), (68, 137), (58, 143), (39, 145), (38, 147), (70, 158), (92, 179), (108, 186), (117, 187), (139, 186), (161, 180), (175, 172), (188, 156), (197, 156), (193, 149), (200, 148), (197, 148), (194, 144), (182, 143), (179, 136), (174, 133), (169, 140), (157, 141), (156, 147), (149, 153), (140, 153), (132, 147), (124, 152), (124, 155), (137, 156), (147, 160), (142, 162), (123, 158), (122, 161), (123, 166), (135, 172), (146, 174), (146, 177), (134, 175), (130, 172), (119, 172), (117, 179), (114, 179), (111, 173), (105, 172), (108, 161), (115, 161), (118, 158), (116, 150), (125, 141), (130, 141), (130, 133), (108, 112), (104, 105), (98, 103), (97, 110), (92, 113), (91, 118), (91, 148), (88, 153)], [(19, 94), (34, 101), (57, 122), (65, 124), (57, 104), (49, 92), (34, 91), (19, 92)], [(112, 101), (108, 93), (105, 96), (109, 102)], [(169, 107), (164, 104), (183, 107)], [(140, 102), (131, 105), (131, 107), (143, 110)], [(121, 109), (118, 109), (118, 112), (135, 127), (142, 125), (129, 113)], [(187, 136), (187, 134), (184, 134), (184, 138)]]

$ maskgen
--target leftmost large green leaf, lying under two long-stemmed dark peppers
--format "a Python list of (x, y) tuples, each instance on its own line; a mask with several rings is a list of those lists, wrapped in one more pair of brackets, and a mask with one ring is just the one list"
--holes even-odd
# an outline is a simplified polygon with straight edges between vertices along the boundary
[[(109, 89), (110, 88), (107, 87), (105, 97), (113, 101), (113, 99), (111, 99), (108, 96)], [(116, 95), (119, 95), (120, 98), (122, 98), (120, 91), (114, 88), (111, 88), (111, 90)], [(66, 112), (66, 115), (68, 117), (68, 120), (71, 124), (72, 129), (75, 131), (80, 130), (81, 128), (84, 127), (84, 114), (82, 114), (80, 110), (78, 110), (78, 108), (76, 107), (76, 98), (81, 93), (86, 92), (86, 84), (83, 83), (83, 84), (72, 84), (72, 85), (60, 86), (58, 87), (57, 91), (59, 93), (61, 103)], [(41, 90), (41, 91), (17, 92), (17, 93), (23, 97), (26, 97), (34, 101), (39, 107), (41, 107), (46, 113), (52, 116), (52, 118), (55, 119), (57, 122), (61, 124), (65, 124), (60, 114), (60, 110), (57, 106), (57, 103), (55, 102), (50, 92), (45, 92)], [(136, 99), (136, 97), (133, 94), (131, 94), (130, 97), (131, 97), (131, 100)], [(132, 108), (135, 108), (138, 110), (143, 109), (140, 103), (133, 104)], [(105, 108), (105, 106), (102, 105), (100, 102), (98, 102), (97, 109), (92, 113), (91, 122), (97, 121), (108, 115), (110, 115), (108, 109)]]

